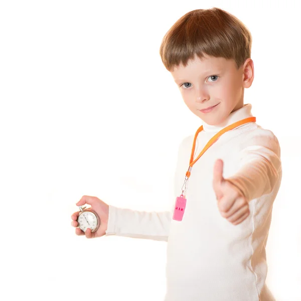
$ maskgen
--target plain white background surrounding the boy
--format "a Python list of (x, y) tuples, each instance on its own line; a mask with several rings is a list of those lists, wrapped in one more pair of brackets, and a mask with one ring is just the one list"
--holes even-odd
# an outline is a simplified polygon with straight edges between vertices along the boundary
[(255, 77), (244, 103), (281, 146), (267, 284), (277, 301), (301, 300), (297, 6), (2, 1), (0, 298), (163, 300), (166, 242), (79, 237), (71, 214), (83, 195), (168, 210), (178, 145), (202, 121), (186, 107), (159, 47), (184, 14), (219, 7), (251, 31)]

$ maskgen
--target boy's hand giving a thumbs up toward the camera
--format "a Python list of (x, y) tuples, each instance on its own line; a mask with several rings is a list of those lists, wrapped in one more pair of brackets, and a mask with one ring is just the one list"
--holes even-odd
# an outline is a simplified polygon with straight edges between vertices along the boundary
[(243, 222), (248, 215), (249, 204), (242, 192), (223, 177), (224, 163), (217, 160), (213, 170), (213, 189), (222, 217), (233, 225)]

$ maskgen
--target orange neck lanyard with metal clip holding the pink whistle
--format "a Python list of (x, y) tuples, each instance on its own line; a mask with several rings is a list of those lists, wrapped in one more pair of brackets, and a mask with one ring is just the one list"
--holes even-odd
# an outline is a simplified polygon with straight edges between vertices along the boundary
[[(183, 186), (185, 185), (185, 189), (183, 190), (183, 186), (182, 186), (182, 195), (183, 193), (186, 191), (186, 184), (187, 184), (187, 181), (191, 175), (191, 170), (192, 170), (192, 167), (193, 165), (201, 158), (201, 156), (206, 152), (206, 150), (217, 140), (217, 138), (219, 136), (221, 136), (223, 133), (225, 133), (226, 131), (228, 130), (231, 130), (232, 128), (234, 127), (237, 127), (239, 125), (242, 125), (242, 124), (245, 124), (245, 123), (248, 123), (248, 122), (255, 122), (256, 121), (256, 117), (248, 117), (248, 118), (245, 118), (245, 119), (242, 119), (242, 120), (239, 120), (237, 122), (234, 122), (230, 125), (228, 125), (227, 127), (223, 128), (222, 130), (220, 130), (217, 134), (215, 134), (209, 141), (208, 143), (205, 145), (205, 147), (203, 148), (202, 152), (200, 153), (200, 155), (198, 156), (198, 158), (193, 161), (193, 155), (194, 155), (194, 152), (195, 152), (195, 147), (196, 147), (196, 141), (197, 141), (197, 136), (199, 134), (199, 132), (201, 132), (203, 130), (203, 125), (200, 126), (195, 134), (195, 137), (194, 137), (194, 140), (193, 140), (193, 145), (192, 145), (192, 150), (191, 150), (191, 156), (190, 156), (190, 163), (189, 163), (189, 169), (188, 171), (186, 172), (186, 177), (185, 177), (185, 181), (184, 181), (184, 184)], [(185, 196), (185, 194), (184, 194)]]

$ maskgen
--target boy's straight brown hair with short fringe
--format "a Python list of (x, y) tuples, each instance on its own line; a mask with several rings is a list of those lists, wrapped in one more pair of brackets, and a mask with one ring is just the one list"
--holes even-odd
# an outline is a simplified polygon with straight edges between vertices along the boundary
[(194, 10), (165, 34), (160, 56), (168, 71), (204, 55), (234, 59), (237, 69), (251, 56), (252, 36), (235, 16), (219, 8)]

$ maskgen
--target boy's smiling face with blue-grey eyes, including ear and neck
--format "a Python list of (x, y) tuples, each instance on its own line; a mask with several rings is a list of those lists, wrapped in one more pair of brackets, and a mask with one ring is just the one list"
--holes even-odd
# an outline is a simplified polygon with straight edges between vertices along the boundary
[[(244, 105), (244, 88), (251, 86), (253, 70), (250, 58), (237, 70), (233, 59), (206, 56), (201, 60), (196, 56), (171, 74), (188, 108), (207, 124), (216, 125)], [(200, 111), (215, 105), (207, 113)]]

